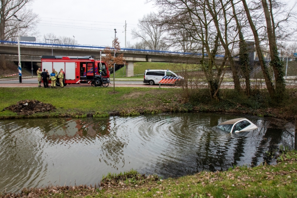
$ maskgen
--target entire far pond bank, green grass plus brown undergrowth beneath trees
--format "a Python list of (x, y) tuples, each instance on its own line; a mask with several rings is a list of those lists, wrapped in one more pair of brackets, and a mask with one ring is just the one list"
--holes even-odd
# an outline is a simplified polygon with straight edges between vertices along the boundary
[[(297, 115), (297, 91), (287, 89), (283, 100), (271, 99), (265, 91), (254, 91), (250, 96), (233, 89), (222, 89), (219, 101), (209, 96), (208, 89), (190, 93), (183, 100), (182, 89), (177, 88), (93, 88), (66, 87), (45, 88), (0, 88), (0, 119), (4, 118), (49, 118), (156, 114), (165, 112), (224, 112), (258, 115), (290, 120)], [(36, 99), (53, 104), (56, 110), (18, 115), (3, 108), (20, 100)]]

